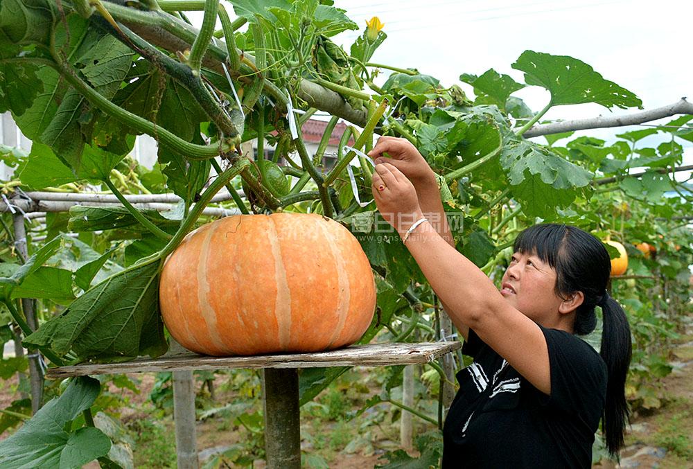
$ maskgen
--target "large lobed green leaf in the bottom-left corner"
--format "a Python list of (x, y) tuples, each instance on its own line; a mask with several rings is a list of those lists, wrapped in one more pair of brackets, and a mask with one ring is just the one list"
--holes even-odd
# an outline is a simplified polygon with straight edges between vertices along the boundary
[(13, 468), (72, 469), (105, 456), (111, 441), (94, 427), (67, 432), (66, 424), (91, 406), (100, 384), (82, 376), (64, 393), (51, 399), (15, 434), (0, 442), (0, 466)]

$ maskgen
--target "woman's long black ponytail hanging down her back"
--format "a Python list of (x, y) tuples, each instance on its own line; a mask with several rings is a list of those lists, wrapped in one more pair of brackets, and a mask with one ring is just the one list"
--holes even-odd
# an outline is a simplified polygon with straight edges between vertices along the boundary
[(604, 441), (612, 457), (623, 447), (623, 434), (630, 411), (626, 402), (626, 374), (631, 363), (631, 328), (623, 308), (608, 293), (597, 303), (602, 308), (602, 348), (599, 355), (606, 363), (606, 405), (604, 407)]

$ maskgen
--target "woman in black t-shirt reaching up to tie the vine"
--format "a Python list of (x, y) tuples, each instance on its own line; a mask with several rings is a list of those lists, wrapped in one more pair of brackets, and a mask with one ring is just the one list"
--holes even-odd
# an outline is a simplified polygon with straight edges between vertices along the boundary
[[(617, 456), (629, 416), (631, 335), (606, 292), (611, 263), (602, 242), (565, 225), (530, 227), (515, 242), (499, 292), (455, 249), (435, 175), (416, 148), (384, 136), (369, 155), (376, 159), (378, 211), (475, 359), (457, 373), (444, 468), (588, 468), (602, 418), (607, 448)], [(595, 306), (604, 316), (600, 353), (575, 336), (594, 330)]]

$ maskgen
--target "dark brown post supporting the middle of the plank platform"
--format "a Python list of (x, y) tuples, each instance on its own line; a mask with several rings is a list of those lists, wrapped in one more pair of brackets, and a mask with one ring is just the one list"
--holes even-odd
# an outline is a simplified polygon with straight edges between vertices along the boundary
[(262, 387), (267, 469), (299, 469), (301, 414), (298, 370), (265, 368)]

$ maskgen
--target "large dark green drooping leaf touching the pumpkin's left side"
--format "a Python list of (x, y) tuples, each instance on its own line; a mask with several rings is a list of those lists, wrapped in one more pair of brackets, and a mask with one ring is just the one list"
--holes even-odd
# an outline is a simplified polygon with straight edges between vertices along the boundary
[(64, 355), (121, 359), (166, 351), (159, 315), (159, 268), (150, 260), (114, 274), (49, 319), (24, 344), (48, 346)]

